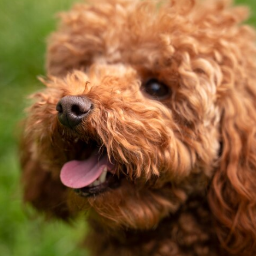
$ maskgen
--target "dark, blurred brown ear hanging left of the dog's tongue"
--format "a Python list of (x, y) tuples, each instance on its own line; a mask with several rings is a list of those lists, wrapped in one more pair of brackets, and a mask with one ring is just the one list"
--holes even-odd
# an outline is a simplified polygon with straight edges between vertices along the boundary
[(39, 159), (33, 157), (29, 139), (22, 139), (20, 152), (24, 201), (45, 212), (46, 218), (57, 217), (68, 221), (72, 214), (67, 205), (67, 189), (50, 170), (41, 166)]

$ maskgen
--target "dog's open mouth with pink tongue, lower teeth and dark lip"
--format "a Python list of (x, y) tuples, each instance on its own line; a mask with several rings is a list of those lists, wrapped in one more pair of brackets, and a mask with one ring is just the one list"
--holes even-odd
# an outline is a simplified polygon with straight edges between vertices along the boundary
[(121, 183), (115, 161), (109, 161), (107, 150), (99, 150), (98, 147), (92, 149), (87, 159), (66, 162), (60, 178), (62, 184), (83, 197), (101, 194), (109, 188), (119, 187)]

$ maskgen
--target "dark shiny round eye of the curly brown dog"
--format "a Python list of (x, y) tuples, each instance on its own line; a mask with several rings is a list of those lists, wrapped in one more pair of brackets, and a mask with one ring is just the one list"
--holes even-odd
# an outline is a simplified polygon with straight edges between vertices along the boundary
[(144, 85), (142, 85), (142, 91), (155, 99), (168, 98), (171, 93), (169, 87), (158, 81), (156, 78), (151, 78)]

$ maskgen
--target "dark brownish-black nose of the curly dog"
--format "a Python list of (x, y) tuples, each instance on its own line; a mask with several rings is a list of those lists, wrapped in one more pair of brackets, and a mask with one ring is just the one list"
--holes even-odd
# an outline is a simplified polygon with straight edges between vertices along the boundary
[(80, 124), (91, 108), (92, 102), (84, 96), (65, 96), (56, 105), (59, 122), (70, 128)]

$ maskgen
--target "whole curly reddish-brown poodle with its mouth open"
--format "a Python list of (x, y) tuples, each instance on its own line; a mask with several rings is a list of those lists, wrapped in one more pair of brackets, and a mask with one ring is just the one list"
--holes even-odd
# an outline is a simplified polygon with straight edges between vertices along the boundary
[(256, 255), (256, 46), (227, 1), (61, 14), (22, 139), (25, 201), (87, 212), (94, 256)]

